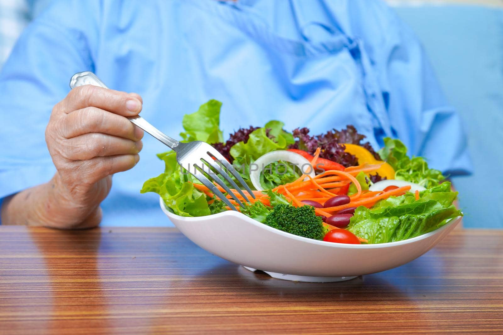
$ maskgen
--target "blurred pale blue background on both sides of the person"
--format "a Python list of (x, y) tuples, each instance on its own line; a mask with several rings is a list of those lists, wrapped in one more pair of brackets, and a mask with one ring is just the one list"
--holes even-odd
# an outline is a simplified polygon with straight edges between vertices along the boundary
[[(0, 0), (0, 67), (17, 36), (51, 0)], [(503, 228), (503, 0), (389, 0), (423, 42), (461, 114), (475, 168), (456, 177), (464, 227)], [(411, 125), (412, 127), (413, 125)]]

